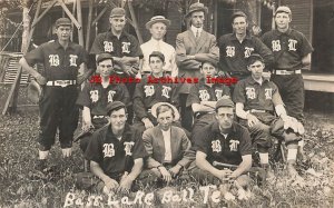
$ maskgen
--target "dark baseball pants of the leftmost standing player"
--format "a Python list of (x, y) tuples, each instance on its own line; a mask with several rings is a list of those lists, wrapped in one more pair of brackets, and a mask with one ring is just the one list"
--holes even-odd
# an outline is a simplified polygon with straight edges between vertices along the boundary
[(39, 102), (40, 136), (42, 151), (51, 149), (55, 143), (57, 129), (61, 148), (72, 147), (73, 132), (78, 126), (79, 108), (76, 106), (77, 86), (46, 86)]

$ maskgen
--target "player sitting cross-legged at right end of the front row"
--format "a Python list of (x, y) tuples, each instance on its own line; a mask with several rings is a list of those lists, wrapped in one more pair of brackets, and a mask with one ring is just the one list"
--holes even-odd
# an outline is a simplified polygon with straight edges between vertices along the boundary
[[(225, 199), (229, 198), (227, 181), (236, 181), (239, 194), (244, 192), (252, 167), (252, 141), (249, 132), (234, 122), (235, 106), (230, 99), (220, 99), (215, 106), (216, 120), (194, 135), (196, 167), (189, 170), (199, 181), (220, 186)], [(224, 169), (224, 167), (232, 167)]]

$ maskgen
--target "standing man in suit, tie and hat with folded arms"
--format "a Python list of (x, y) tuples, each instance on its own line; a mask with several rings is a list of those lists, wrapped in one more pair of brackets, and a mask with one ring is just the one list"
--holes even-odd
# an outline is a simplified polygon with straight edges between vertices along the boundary
[[(203, 3), (193, 3), (186, 18), (190, 21), (187, 31), (176, 37), (176, 62), (178, 66), (178, 77), (199, 78), (200, 62), (206, 59), (219, 59), (219, 49), (217, 47), (216, 37), (204, 31), (205, 14), (207, 8)], [(191, 130), (193, 116), (191, 109), (186, 107), (187, 97), (190, 91), (191, 83), (181, 83), (179, 86), (179, 101), (181, 108), (181, 125), (187, 130)]]

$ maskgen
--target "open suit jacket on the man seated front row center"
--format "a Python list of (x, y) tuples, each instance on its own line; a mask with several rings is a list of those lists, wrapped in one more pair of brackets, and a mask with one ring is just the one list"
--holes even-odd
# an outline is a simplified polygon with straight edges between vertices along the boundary
[[(157, 168), (165, 159), (165, 141), (161, 129), (158, 126), (147, 129), (143, 133), (143, 140), (149, 155), (146, 161), (147, 168)], [(171, 164), (187, 167), (193, 160), (189, 151), (190, 141), (181, 128), (170, 127), (170, 146)]]

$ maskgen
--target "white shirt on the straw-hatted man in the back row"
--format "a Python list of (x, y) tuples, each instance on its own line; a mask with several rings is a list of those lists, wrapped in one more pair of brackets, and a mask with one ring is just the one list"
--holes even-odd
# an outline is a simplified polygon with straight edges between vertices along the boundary
[(166, 65), (164, 66), (164, 71), (169, 71), (171, 73), (171, 77), (177, 77), (178, 75), (178, 69), (175, 62), (175, 49), (173, 46), (164, 42), (163, 40), (156, 40), (151, 38), (149, 41), (143, 43), (140, 46), (140, 49), (144, 55), (143, 59), (143, 68), (141, 71), (151, 71), (149, 67), (149, 55), (153, 51), (160, 51), (165, 56), (165, 62)]

